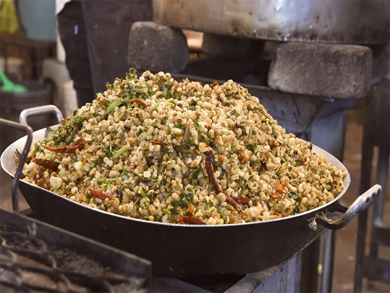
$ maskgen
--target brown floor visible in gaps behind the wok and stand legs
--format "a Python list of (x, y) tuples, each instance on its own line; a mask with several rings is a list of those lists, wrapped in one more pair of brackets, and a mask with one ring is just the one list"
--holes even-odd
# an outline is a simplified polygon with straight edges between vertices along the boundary
[[(355, 122), (356, 119), (350, 119), (347, 126), (346, 145), (344, 153), (344, 164), (351, 173), (351, 187), (343, 197), (343, 201), (351, 204), (359, 192), (360, 182), (360, 162), (361, 162), (361, 146), (363, 128)], [(375, 151), (377, 157), (377, 150)], [(375, 170), (374, 164), (373, 170)], [(375, 178), (375, 174), (372, 176)], [(374, 184), (374, 180), (372, 181)], [(390, 184), (386, 192), (386, 203), (384, 209), (384, 222), (390, 225)], [(11, 180), (7, 174), (1, 170), (0, 173), (0, 206), (3, 209), (12, 209), (11, 204)], [(20, 195), (20, 210), (28, 208), (24, 198)], [(370, 223), (369, 223), (370, 226)], [(357, 217), (344, 229), (337, 232), (333, 292), (352, 292), (353, 279), (355, 270), (355, 254), (356, 254), (356, 231), (357, 231)], [(370, 233), (368, 233), (370, 235)], [(367, 239), (366, 248), (369, 247), (369, 239)], [(367, 251), (368, 253), (368, 251)], [(389, 248), (381, 248), (379, 251), (380, 257), (390, 259)], [(363, 282), (364, 292), (390, 292), (389, 284), (380, 282)]]

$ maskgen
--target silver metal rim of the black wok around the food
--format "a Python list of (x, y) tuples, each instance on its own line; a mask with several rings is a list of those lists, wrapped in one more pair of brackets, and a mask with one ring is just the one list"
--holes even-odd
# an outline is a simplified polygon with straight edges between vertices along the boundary
[[(52, 127), (58, 127), (59, 124), (57, 125), (53, 125), (53, 126), (48, 126), (50, 128)], [(34, 141), (36, 141), (35, 139), (35, 136), (38, 134), (38, 132), (43, 132), (44, 130), (46, 130), (48, 127), (46, 128), (41, 128), (39, 130), (36, 130), (34, 131), (33, 133), (33, 143)], [(14, 178), (14, 174), (12, 174), (11, 171), (8, 170), (7, 166), (5, 166), (5, 155), (6, 153), (10, 152), (11, 149), (13, 147), (15, 147), (15, 144), (17, 144), (18, 142), (21, 142), (22, 140), (25, 141), (27, 139), (27, 136), (23, 136), (21, 137), (20, 139), (16, 140), (15, 142), (13, 142), (11, 145), (7, 146), (7, 148), (3, 151), (3, 153), (1, 154), (1, 157), (0, 157), (0, 163), (1, 163), (1, 167), (3, 168), (3, 170), (9, 175), (11, 176), (12, 178)], [(303, 141), (303, 142), (307, 142), (303, 139), (300, 139), (298, 138), (299, 140)], [(236, 224), (223, 224), (223, 225), (186, 225), (186, 224), (174, 224), (174, 223), (162, 223), (162, 222), (152, 222), (152, 221), (147, 221), (147, 220), (142, 220), (142, 219), (137, 219), (137, 218), (132, 218), (132, 217), (127, 217), (127, 216), (122, 216), (122, 215), (119, 215), (119, 214), (116, 214), (116, 213), (112, 213), (112, 212), (108, 212), (108, 211), (105, 211), (105, 210), (101, 210), (101, 209), (94, 209), (90, 206), (86, 206), (86, 205), (83, 205), (81, 203), (78, 203), (74, 200), (71, 200), (67, 197), (64, 197), (64, 196), (61, 196), (59, 195), (58, 193), (55, 193), (53, 191), (50, 191), (50, 190), (47, 190), (47, 189), (44, 189), (44, 188), (41, 188), (37, 185), (34, 185), (32, 183), (29, 183), (29, 182), (26, 182), (26, 181), (23, 181), (21, 179), (19, 179), (19, 181), (22, 181), (24, 184), (27, 184), (27, 185), (30, 185), (31, 187), (33, 188), (39, 188), (41, 189), (43, 192), (48, 192), (50, 194), (53, 194), (55, 196), (58, 196), (59, 198), (61, 199), (64, 199), (64, 200), (68, 200), (74, 204), (77, 204), (81, 207), (84, 207), (84, 208), (87, 208), (87, 209), (92, 209), (92, 210), (95, 210), (95, 211), (98, 211), (98, 212), (102, 212), (102, 213), (105, 213), (107, 215), (111, 215), (111, 216), (117, 216), (119, 218), (122, 218), (122, 219), (127, 219), (127, 220), (132, 220), (132, 221), (136, 221), (136, 222), (142, 222), (144, 224), (150, 224), (150, 225), (161, 225), (162, 227), (163, 226), (168, 226), (168, 227), (187, 227), (187, 228), (204, 228), (204, 229), (218, 229), (218, 228), (222, 228), (222, 227), (236, 227), (236, 226), (247, 226), (247, 225), (254, 225), (254, 224), (261, 224), (261, 223), (272, 223), (272, 222), (278, 222), (278, 221), (285, 221), (285, 220), (289, 220), (289, 219), (292, 219), (292, 218), (297, 218), (297, 217), (302, 217), (302, 218), (305, 218), (305, 216), (309, 215), (309, 214), (314, 214), (316, 212), (318, 212), (319, 210), (326, 210), (327, 207), (330, 207), (332, 206), (334, 203), (336, 203), (338, 200), (340, 200), (343, 195), (345, 194), (345, 192), (347, 191), (347, 189), (350, 187), (351, 185), (351, 175), (350, 175), (350, 172), (348, 171), (348, 169), (343, 165), (343, 163), (341, 163), (336, 157), (334, 157), (331, 153), (327, 152), (326, 150), (322, 149), (321, 147), (319, 146), (315, 146), (313, 145), (314, 148), (318, 149), (318, 151), (316, 150), (316, 153), (317, 155), (318, 154), (326, 154), (327, 155), (327, 161), (330, 161), (329, 158), (332, 159), (332, 164), (336, 167), (338, 167), (338, 169), (341, 169), (341, 168), (345, 168), (347, 170), (347, 175), (344, 177), (343, 181), (344, 181), (344, 188), (343, 190), (341, 190), (340, 194), (337, 195), (337, 197), (335, 197), (333, 200), (331, 200), (329, 203), (326, 203), (325, 205), (323, 206), (319, 206), (317, 208), (314, 208), (314, 209), (310, 209), (310, 210), (307, 210), (305, 212), (302, 212), (302, 213), (298, 213), (298, 214), (295, 214), (295, 215), (292, 215), (292, 216), (287, 216), (287, 217), (283, 217), (283, 218), (278, 218), (278, 219), (272, 219), (272, 220), (266, 220), (266, 221), (256, 221), (256, 222), (249, 222), (249, 223), (236, 223)], [(329, 157), (328, 157), (329, 156)], [(335, 165), (334, 163), (337, 163), (337, 165)], [(19, 182), (20, 183), (20, 182)], [(24, 195), (23, 195), (24, 197)]]

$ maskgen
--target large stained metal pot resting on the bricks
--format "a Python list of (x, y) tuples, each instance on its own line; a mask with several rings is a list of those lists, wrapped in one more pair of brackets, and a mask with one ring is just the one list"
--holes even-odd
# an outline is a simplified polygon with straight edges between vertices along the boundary
[(389, 42), (388, 0), (154, 0), (154, 21), (238, 38)]

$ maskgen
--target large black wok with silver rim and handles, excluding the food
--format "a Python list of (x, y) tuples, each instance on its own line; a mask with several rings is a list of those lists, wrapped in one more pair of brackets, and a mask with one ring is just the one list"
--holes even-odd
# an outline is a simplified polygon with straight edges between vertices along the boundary
[[(52, 107), (49, 106), (49, 110)], [(38, 108), (34, 113), (48, 109), (47, 106)], [(23, 112), (25, 120), (26, 112)], [(34, 139), (43, 139), (45, 132), (46, 129), (35, 131)], [(16, 148), (23, 149), (26, 141), (26, 136), (19, 139), (1, 155), (1, 167), (12, 177), (16, 170), (12, 156)], [(317, 146), (313, 146), (313, 150), (323, 154), (335, 166), (344, 167), (325, 150)], [(347, 173), (342, 192), (330, 203), (316, 209), (264, 222), (190, 226), (119, 216), (84, 206), (22, 180), (19, 183), (20, 191), (39, 218), (151, 260), (155, 275), (169, 277), (243, 274), (272, 267), (308, 243), (315, 236), (317, 224), (329, 229), (344, 227), (356, 213), (367, 209), (381, 190), (375, 185), (350, 207), (346, 206), (340, 199), (351, 183)], [(325, 215), (328, 211), (340, 211), (343, 215), (332, 220)]]

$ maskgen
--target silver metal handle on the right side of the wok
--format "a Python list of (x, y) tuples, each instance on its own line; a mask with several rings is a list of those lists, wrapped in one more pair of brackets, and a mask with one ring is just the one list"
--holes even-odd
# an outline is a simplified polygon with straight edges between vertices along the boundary
[[(382, 187), (378, 184), (375, 184), (369, 190), (360, 195), (356, 200), (351, 204), (351, 206), (345, 211), (345, 213), (338, 219), (332, 220), (327, 218), (324, 214), (317, 214), (313, 221), (309, 224), (310, 228), (314, 228), (315, 224), (320, 224), (325, 226), (328, 229), (336, 230), (345, 227), (351, 219), (359, 212), (364, 211), (370, 207), (374, 199), (381, 192)], [(345, 207), (346, 205), (343, 202), (336, 203)]]

